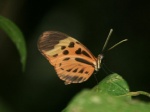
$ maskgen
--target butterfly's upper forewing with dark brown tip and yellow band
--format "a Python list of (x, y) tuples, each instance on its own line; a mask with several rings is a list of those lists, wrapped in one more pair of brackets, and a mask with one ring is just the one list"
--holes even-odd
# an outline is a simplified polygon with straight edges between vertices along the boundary
[(76, 39), (57, 31), (46, 31), (38, 40), (38, 49), (55, 66), (57, 59), (77, 55), (95, 63), (93, 54)]

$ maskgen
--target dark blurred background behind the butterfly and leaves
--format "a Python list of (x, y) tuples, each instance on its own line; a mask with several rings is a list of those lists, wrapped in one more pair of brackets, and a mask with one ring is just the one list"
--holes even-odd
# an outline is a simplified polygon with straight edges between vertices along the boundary
[[(108, 48), (124, 38), (129, 41), (107, 52), (104, 64), (120, 74), (131, 91), (150, 92), (148, 0), (0, 0), (0, 15), (18, 25), (28, 50), (22, 73), (15, 45), (0, 30), (1, 112), (59, 112), (79, 91), (97, 84), (91, 76), (85, 83), (64, 85), (37, 49), (38, 37), (45, 30), (67, 33), (97, 56), (113, 28)], [(96, 77), (101, 81), (107, 75), (101, 69)], [(144, 96), (136, 99), (149, 101)]]

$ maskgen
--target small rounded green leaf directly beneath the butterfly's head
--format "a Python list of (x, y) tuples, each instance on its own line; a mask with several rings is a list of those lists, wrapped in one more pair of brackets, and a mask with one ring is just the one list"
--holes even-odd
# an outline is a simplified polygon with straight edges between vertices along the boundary
[(125, 95), (129, 93), (127, 82), (117, 73), (107, 76), (96, 87), (94, 87), (93, 90), (113, 96)]

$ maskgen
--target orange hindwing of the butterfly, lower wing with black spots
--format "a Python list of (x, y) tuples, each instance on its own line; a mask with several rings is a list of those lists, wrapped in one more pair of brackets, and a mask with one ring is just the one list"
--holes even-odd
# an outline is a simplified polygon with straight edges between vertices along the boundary
[(65, 84), (81, 83), (92, 75), (94, 65), (82, 57), (72, 55), (59, 58), (55, 70), (59, 78), (65, 81)]

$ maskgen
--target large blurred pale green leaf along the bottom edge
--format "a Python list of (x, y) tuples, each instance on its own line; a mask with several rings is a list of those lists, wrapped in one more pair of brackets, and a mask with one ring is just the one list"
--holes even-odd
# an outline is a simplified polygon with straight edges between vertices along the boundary
[(63, 112), (149, 112), (150, 104), (84, 90)]

